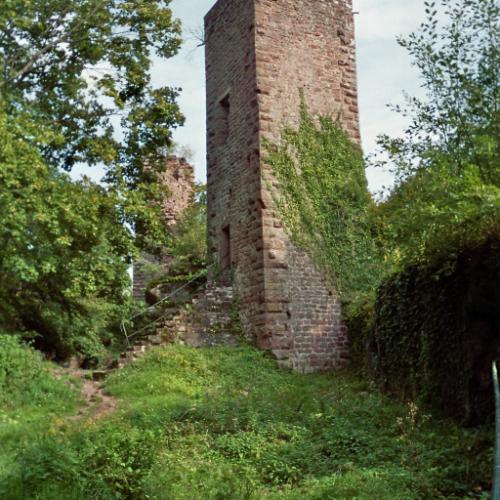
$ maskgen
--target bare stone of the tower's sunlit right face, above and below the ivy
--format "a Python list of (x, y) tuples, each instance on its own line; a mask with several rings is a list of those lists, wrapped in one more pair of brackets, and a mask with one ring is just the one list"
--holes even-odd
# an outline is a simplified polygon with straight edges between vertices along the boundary
[[(260, 133), (279, 140), (298, 120), (299, 89), (312, 113), (337, 115), (359, 140), (354, 20), (350, 0), (256, 0)], [(348, 339), (340, 302), (321, 273), (276, 224), (263, 166), (266, 331), (260, 344), (298, 370), (341, 366)], [(278, 227), (275, 227), (278, 226)]]

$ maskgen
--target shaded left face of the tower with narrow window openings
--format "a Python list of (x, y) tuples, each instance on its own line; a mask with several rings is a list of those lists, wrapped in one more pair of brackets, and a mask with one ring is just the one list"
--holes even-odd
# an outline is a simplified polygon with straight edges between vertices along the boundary
[(231, 267), (249, 337), (263, 324), (264, 302), (254, 30), (249, 0), (218, 2), (205, 19), (209, 255), (212, 262), (223, 260), (229, 226)]

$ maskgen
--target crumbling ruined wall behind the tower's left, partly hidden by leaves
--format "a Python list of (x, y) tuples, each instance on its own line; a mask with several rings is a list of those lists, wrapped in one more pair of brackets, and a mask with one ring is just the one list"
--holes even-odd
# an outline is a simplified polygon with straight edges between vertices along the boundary
[[(175, 226), (182, 213), (193, 202), (195, 181), (194, 168), (184, 158), (168, 156), (165, 170), (158, 175), (158, 182), (165, 192), (161, 201), (165, 225)], [(148, 284), (155, 279), (168, 263), (168, 255), (162, 258), (143, 253), (134, 264), (133, 296), (144, 300)]]

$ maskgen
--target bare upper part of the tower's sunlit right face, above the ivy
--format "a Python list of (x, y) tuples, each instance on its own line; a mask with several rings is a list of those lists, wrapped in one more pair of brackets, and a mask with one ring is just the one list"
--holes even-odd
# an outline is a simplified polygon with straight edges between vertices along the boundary
[(342, 113), (359, 139), (351, 0), (254, 0), (262, 135), (298, 119), (299, 89), (313, 113)]

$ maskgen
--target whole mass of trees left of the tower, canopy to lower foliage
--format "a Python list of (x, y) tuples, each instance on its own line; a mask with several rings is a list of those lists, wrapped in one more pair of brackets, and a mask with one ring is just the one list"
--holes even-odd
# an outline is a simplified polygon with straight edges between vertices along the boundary
[[(58, 358), (102, 352), (137, 247), (167, 240), (156, 172), (183, 117), (150, 69), (181, 42), (169, 4), (2, 2), (0, 328)], [(81, 163), (104, 184), (73, 181)]]

